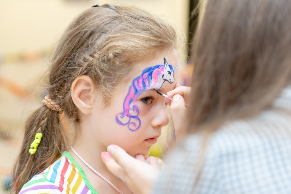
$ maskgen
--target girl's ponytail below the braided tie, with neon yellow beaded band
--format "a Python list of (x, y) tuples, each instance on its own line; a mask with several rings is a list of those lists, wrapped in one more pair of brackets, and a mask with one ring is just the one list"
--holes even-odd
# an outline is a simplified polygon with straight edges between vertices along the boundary
[(26, 121), (26, 138), (13, 171), (16, 193), (35, 174), (42, 172), (58, 159), (66, 149), (59, 115), (60, 111), (41, 106)]

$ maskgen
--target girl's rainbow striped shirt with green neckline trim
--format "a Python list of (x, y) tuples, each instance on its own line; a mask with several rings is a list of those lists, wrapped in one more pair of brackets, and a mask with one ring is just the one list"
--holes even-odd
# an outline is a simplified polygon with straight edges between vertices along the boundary
[(88, 181), (82, 168), (67, 151), (46, 170), (32, 177), (19, 192), (19, 194), (24, 193), (98, 194)]

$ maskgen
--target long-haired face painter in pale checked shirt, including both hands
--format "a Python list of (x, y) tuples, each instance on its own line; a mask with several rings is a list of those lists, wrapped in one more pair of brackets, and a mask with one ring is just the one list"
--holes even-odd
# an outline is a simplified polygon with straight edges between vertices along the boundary
[[(181, 95), (190, 101), (188, 135), (166, 158), (154, 192), (142, 188), (153, 180), (144, 179), (150, 166), (116, 145), (108, 151), (119, 168), (109, 153), (104, 162), (136, 194), (291, 193), (291, 1), (206, 2), (191, 93), (167, 94), (174, 124), (185, 112)], [(132, 176), (142, 174), (140, 164), (148, 176)]]

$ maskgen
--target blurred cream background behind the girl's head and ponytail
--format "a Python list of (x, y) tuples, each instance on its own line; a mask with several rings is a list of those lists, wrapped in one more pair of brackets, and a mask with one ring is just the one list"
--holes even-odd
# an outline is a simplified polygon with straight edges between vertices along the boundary
[[(49, 65), (48, 54), (69, 22), (99, 3), (140, 6), (180, 25), (186, 36), (192, 24), (191, 0), (2, 0), (0, 6), (0, 194), (20, 149), (27, 115), (41, 106), (39, 85)], [(194, 18), (195, 20), (195, 18)], [(191, 38), (191, 34), (190, 34)], [(185, 61), (186, 64), (186, 61)], [(188, 84), (185, 66), (180, 83)]]

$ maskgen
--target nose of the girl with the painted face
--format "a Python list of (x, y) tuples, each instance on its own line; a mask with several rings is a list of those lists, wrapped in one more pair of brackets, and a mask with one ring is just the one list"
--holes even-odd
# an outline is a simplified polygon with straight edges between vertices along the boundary
[(157, 107), (156, 114), (153, 115), (154, 118), (151, 122), (153, 127), (164, 127), (169, 124), (170, 117), (165, 109), (165, 102), (162, 99), (161, 106)]

